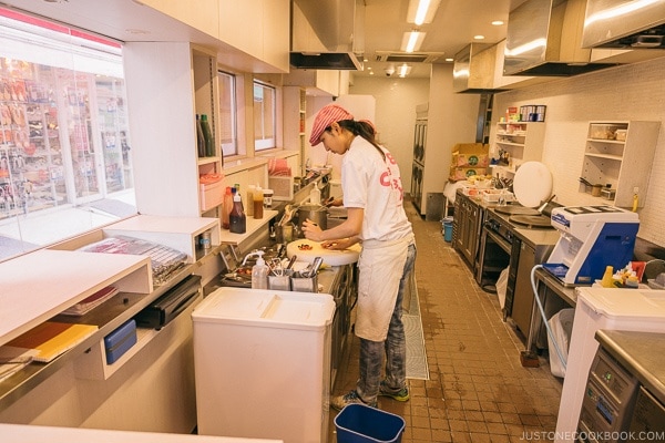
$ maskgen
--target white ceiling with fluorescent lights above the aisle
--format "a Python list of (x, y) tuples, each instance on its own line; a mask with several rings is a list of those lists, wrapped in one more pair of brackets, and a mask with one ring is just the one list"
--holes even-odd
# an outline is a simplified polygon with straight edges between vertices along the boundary
[[(505, 39), (508, 13), (525, 0), (441, 0), (434, 21), (422, 24), (427, 32), (419, 53), (442, 52), (434, 63), (444, 63), (471, 42), (498, 43)], [(385, 76), (385, 70), (391, 64), (376, 62), (377, 51), (400, 52), (402, 34), (415, 28), (407, 23), (409, 0), (365, 0), (365, 63), (364, 71), (354, 71), (354, 75)], [(502, 20), (503, 25), (492, 25)], [(484, 40), (474, 40), (474, 35), (484, 35)], [(395, 64), (395, 63), (392, 63)], [(429, 78), (429, 63), (409, 63), (412, 65), (410, 78)]]

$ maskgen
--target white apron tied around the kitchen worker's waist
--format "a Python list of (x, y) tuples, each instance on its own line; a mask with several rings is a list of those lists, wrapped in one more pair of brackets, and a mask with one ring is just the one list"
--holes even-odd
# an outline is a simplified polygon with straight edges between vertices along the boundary
[(395, 310), (399, 281), (407, 261), (412, 236), (392, 241), (362, 243), (358, 260), (358, 315), (356, 336), (383, 341)]

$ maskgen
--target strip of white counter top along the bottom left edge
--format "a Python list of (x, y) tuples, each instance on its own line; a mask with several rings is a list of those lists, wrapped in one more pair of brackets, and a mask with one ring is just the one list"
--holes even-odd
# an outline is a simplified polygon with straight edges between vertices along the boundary
[(0, 424), (3, 443), (279, 443), (282, 440)]

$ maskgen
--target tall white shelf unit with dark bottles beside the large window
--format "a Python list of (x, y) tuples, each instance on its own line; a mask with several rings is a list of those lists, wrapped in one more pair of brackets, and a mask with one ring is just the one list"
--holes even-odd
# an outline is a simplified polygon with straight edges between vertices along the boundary
[(198, 217), (200, 175), (222, 172), (218, 143), (214, 157), (198, 159), (196, 150), (196, 114), (207, 114), (218, 136), (216, 56), (185, 42), (129, 42), (123, 54), (136, 207), (147, 215)]

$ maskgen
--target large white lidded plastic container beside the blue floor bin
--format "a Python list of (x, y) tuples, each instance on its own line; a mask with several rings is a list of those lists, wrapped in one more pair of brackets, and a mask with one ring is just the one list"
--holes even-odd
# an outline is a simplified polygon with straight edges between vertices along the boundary
[(223, 287), (192, 313), (198, 434), (328, 436), (332, 296)]

